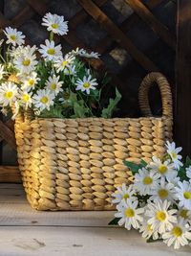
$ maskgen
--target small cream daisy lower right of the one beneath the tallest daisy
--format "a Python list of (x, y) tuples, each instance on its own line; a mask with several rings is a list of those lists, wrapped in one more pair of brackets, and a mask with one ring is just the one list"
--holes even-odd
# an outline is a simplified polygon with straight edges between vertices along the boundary
[(72, 55), (65, 55), (64, 58), (57, 58), (54, 62), (54, 67), (56, 68), (57, 72), (65, 71), (71, 69), (74, 63), (74, 56)]

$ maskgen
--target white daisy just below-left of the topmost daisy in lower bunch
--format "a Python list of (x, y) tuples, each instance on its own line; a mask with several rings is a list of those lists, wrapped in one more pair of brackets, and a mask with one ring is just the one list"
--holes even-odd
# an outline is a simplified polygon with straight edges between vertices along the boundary
[(153, 162), (149, 164), (149, 167), (153, 172), (158, 173), (161, 177), (166, 177), (167, 180), (169, 180), (175, 178), (178, 175), (174, 164), (170, 163), (170, 160), (166, 160), (162, 163), (161, 160), (156, 156), (153, 156), (152, 160)]

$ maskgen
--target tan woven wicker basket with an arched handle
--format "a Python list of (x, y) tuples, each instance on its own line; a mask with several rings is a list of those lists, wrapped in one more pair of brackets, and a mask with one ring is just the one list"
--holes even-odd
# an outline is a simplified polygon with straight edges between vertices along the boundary
[[(148, 90), (159, 84), (162, 117), (153, 117)], [(150, 161), (172, 137), (172, 96), (166, 79), (149, 74), (139, 88), (140, 118), (15, 120), (18, 163), (32, 208), (111, 210), (117, 186), (131, 172), (123, 161)]]

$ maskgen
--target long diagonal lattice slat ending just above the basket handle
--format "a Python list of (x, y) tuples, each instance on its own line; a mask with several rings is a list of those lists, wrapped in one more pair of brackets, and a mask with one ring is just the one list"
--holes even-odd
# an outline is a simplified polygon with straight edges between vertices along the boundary
[(148, 72), (159, 71), (157, 65), (147, 58), (132, 41), (124, 35), (117, 25), (102, 12), (93, 1), (77, 0), (77, 2), (88, 12), (93, 18), (119, 43), (127, 50), (132, 58), (135, 58), (138, 63)]

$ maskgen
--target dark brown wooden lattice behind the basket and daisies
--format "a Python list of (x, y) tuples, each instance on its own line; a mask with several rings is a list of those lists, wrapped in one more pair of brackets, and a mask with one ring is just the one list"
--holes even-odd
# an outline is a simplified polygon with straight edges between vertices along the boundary
[[(176, 8), (172, 0), (0, 0), (0, 27), (18, 28), (28, 43), (39, 44), (47, 35), (42, 16), (64, 14), (70, 31), (56, 42), (66, 52), (76, 47), (99, 52), (101, 58), (91, 65), (107, 71), (111, 86), (122, 93), (120, 115), (137, 116), (138, 85), (148, 72), (160, 71), (174, 83)], [(19, 182), (17, 167), (8, 166), (16, 159), (11, 119), (0, 121), (0, 143), (0, 181)]]

